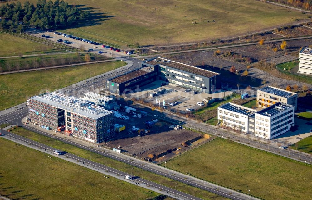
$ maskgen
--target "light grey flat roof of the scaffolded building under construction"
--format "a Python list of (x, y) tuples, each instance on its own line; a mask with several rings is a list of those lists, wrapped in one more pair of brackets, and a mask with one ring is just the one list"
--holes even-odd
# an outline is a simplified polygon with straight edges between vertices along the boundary
[(100, 117), (106, 116), (111, 111), (105, 110), (100, 106), (90, 104), (88, 101), (76, 98), (73, 96), (66, 96), (56, 92), (46, 93), (43, 96), (33, 96), (30, 99), (37, 100), (39, 102), (71, 111), (82, 116), (86, 116), (92, 119), (98, 119)]

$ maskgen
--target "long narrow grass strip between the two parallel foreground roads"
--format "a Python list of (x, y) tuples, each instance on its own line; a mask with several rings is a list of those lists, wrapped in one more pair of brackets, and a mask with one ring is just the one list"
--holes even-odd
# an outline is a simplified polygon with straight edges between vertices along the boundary
[(194, 194), (199, 198), (203, 198), (203, 199), (213, 198), (213, 199), (220, 199), (220, 200), (225, 199), (225, 198), (222, 198), (221, 196), (207, 192), (205, 190), (198, 189), (198, 188), (192, 187), (192, 186), (187, 185), (187, 184), (183, 184), (181, 182), (163, 177), (161, 175), (157, 175), (157, 174), (148, 172), (146, 170), (142, 170), (142, 169), (137, 168), (137, 167), (133, 167), (133, 166), (128, 165), (128, 164), (123, 163), (123, 162), (115, 161), (115, 160), (110, 159), (108, 157), (101, 156), (97, 153), (93, 153), (93, 152), (75, 147), (73, 145), (63, 143), (63, 142), (58, 141), (56, 139), (48, 138), (46, 136), (37, 134), (35, 132), (26, 130), (26, 129), (21, 128), (21, 127), (17, 128), (17, 129), (13, 129), (12, 132), (15, 134), (18, 134), (18, 135), (22, 135), (25, 138), (30, 138), (30, 139), (33, 139), (33, 140), (38, 141), (40, 143), (47, 144), (47, 145), (52, 146), (54, 148), (61, 149), (63, 151), (69, 152), (69, 153), (73, 153), (73, 154), (78, 155), (80, 157), (91, 159), (92, 161), (113, 167), (115, 169), (127, 172), (129, 174), (131, 173), (131, 169), (133, 168), (133, 175), (154, 181), (156, 183), (165, 185), (165, 186), (170, 187), (170, 188), (174, 188), (176, 186), (177, 190), (183, 191), (183, 192), (188, 193), (188, 194)]

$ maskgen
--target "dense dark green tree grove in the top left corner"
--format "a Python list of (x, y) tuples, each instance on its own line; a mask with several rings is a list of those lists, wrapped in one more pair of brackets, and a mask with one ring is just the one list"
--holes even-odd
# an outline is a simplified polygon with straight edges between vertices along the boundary
[(17, 1), (2, 4), (0, 28), (22, 28), (36, 26), (41, 29), (59, 28), (77, 23), (90, 16), (89, 11), (81, 11), (76, 5), (56, 0), (55, 2), (38, 0), (36, 5), (26, 1), (24, 5)]

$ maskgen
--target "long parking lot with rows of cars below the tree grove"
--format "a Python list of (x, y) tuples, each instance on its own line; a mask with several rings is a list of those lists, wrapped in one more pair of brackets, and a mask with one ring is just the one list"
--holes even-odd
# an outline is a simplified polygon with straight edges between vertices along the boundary
[[(125, 54), (121, 49), (120, 49), (120, 52), (116, 52), (116, 51), (111, 50), (109, 48), (102, 47), (103, 44), (99, 43), (98, 41), (94, 41), (94, 42), (98, 42), (99, 45), (94, 45), (94, 44), (90, 44), (90, 43), (83, 42), (80, 40), (67, 38), (67, 37), (63, 36), (62, 34), (57, 35), (57, 34), (54, 34), (54, 32), (55, 31), (46, 32), (43, 30), (32, 29), (28, 33), (32, 34), (33, 36), (36, 36), (36, 37), (41, 37), (41, 35), (49, 36), (49, 38), (45, 38), (45, 37), (42, 37), (42, 38), (45, 38), (47, 40), (51, 40), (53, 42), (57, 42), (57, 40), (61, 39), (62, 42), (59, 42), (59, 43), (62, 43), (62, 44), (64, 44), (64, 42), (68, 41), (70, 43), (66, 44), (66, 45), (69, 45), (69, 46), (77, 48), (77, 49), (83, 48), (85, 51), (93, 52), (93, 53), (96, 53), (99, 55), (102, 54), (102, 55), (105, 55), (107, 57), (129, 56), (128, 54)], [(93, 50), (90, 50), (90, 49), (93, 49)], [(99, 53), (99, 52), (103, 52), (103, 53)]]

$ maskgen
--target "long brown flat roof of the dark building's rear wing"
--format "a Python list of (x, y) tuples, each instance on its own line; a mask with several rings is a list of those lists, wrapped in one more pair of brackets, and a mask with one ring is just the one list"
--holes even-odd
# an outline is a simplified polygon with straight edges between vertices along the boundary
[[(157, 60), (157, 62), (155, 61)], [(164, 62), (162, 62), (162, 60)], [(180, 62), (175, 62), (175, 61), (171, 61), (171, 60), (168, 60), (166, 58), (161, 58), (161, 57), (155, 57), (155, 58), (152, 58), (148, 61), (144, 61), (145, 63), (148, 63), (148, 64), (152, 64), (152, 65), (165, 65), (165, 66), (168, 66), (168, 67), (172, 67), (172, 68), (175, 68), (175, 69), (178, 69), (178, 70), (182, 70), (182, 71), (186, 71), (186, 72), (189, 72), (189, 73), (193, 73), (193, 74), (197, 74), (197, 75), (201, 75), (201, 76), (205, 76), (205, 77), (213, 77), (213, 76), (216, 76), (216, 75), (219, 75), (219, 73), (216, 73), (216, 72), (213, 72), (213, 71), (209, 71), (209, 70), (205, 70), (205, 69), (202, 69), (202, 68), (199, 68), (199, 67), (194, 67), (194, 66), (191, 66), (191, 65), (187, 65), (187, 64), (183, 64), (183, 63), (180, 63)]]

